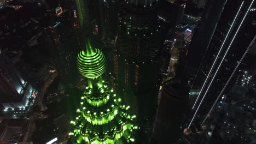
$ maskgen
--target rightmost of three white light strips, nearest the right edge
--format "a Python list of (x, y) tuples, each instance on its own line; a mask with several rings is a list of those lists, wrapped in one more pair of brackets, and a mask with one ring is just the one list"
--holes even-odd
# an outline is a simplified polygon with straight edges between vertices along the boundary
[(220, 98), (220, 95), (222, 95), (222, 93), (224, 92), (226, 86), (228, 86), (229, 84), (229, 81), (232, 79), (233, 75), (235, 74), (237, 68), (239, 67), (239, 65), (241, 64), (241, 62), (243, 61), (243, 58), (246, 56), (247, 52), (249, 51), (249, 49), (251, 48), (252, 44), (255, 42), (255, 39), (256, 39), (256, 35), (255, 37), (253, 38), (251, 44), (247, 47), (247, 50), (245, 51), (245, 53), (243, 53), (243, 56), (242, 58), (240, 59), (240, 61), (238, 62), (238, 64), (236, 65), (236, 68), (234, 69), (234, 71), (232, 72), (232, 74), (230, 75), (229, 77), (229, 80), (225, 83), (225, 86), (222, 88), (222, 91), (219, 93), (217, 99), (215, 100), (214, 104), (212, 105), (210, 111), (207, 113), (205, 119), (203, 119), (203, 122), (201, 123), (201, 125), (206, 121), (207, 117), (210, 115), (210, 113), (212, 112), (214, 106), (217, 104), (219, 98)]

